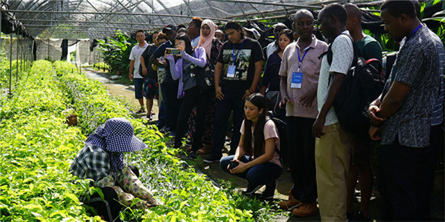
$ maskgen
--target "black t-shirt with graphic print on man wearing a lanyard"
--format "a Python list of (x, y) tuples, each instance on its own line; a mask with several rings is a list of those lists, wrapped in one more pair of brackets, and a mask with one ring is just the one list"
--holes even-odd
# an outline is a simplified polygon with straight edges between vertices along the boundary
[[(238, 56), (236, 56), (237, 53)], [(234, 56), (236, 56), (235, 62)], [(263, 60), (263, 51), (256, 40), (245, 37), (243, 43), (235, 44), (235, 46), (230, 41), (225, 42), (218, 56), (218, 62), (224, 65), (220, 86), (248, 89), (254, 79), (255, 62), (259, 60)], [(235, 75), (232, 78), (227, 76), (229, 65), (236, 66)]]

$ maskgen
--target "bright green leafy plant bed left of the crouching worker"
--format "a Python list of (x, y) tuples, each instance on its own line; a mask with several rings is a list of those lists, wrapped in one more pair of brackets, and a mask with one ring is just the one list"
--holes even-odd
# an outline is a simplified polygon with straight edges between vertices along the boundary
[(37, 61), (0, 107), (0, 220), (98, 221), (78, 196), (89, 181), (69, 173), (85, 136), (64, 123), (53, 66)]

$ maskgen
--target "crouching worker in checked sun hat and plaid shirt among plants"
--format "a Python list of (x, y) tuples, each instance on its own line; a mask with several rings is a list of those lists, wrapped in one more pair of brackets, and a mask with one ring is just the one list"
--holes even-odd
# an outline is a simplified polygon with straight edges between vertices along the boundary
[[(101, 188), (105, 201), (87, 203), (96, 208), (106, 221), (120, 221), (121, 206), (146, 209), (157, 205), (155, 198), (139, 180), (137, 168), (123, 162), (124, 152), (140, 151), (147, 145), (134, 137), (133, 126), (127, 119), (112, 118), (89, 135), (85, 146), (71, 164), (70, 171), (79, 178), (91, 179), (90, 185)], [(97, 197), (93, 194), (90, 197)], [(110, 218), (111, 217), (111, 218)]]

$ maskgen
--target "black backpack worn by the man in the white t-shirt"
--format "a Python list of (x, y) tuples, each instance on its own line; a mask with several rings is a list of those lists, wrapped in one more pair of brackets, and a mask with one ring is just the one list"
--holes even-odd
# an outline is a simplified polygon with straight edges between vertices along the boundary
[[(347, 36), (354, 46), (354, 58), (347, 72), (346, 80), (335, 96), (333, 107), (343, 130), (356, 136), (367, 136), (370, 127), (367, 114), (369, 103), (382, 93), (385, 85), (381, 71), (379, 71), (382, 67), (379, 60), (365, 60), (361, 57), (356, 42), (351, 35)], [(333, 56), (331, 46), (332, 44), (326, 51), (329, 65), (331, 65)], [(379, 62), (379, 69), (369, 65), (369, 62), (373, 61)], [(333, 76), (329, 78), (329, 84), (332, 78)]]

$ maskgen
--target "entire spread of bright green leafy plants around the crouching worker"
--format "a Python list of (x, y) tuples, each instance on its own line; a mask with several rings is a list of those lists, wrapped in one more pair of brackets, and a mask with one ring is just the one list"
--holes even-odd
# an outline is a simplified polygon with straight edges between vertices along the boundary
[[(128, 110), (107, 95), (103, 86), (72, 65), (37, 61), (0, 110), (1, 221), (89, 221), (76, 196), (87, 182), (73, 184), (68, 172), (85, 135), (112, 117), (132, 121), (135, 134), (149, 148), (126, 156), (139, 167), (142, 182), (161, 206), (123, 210), (126, 221), (271, 221), (274, 212), (245, 198), (229, 185), (219, 189), (175, 157), (155, 127), (132, 119)], [(60, 82), (59, 82), (60, 80)], [(74, 108), (78, 127), (67, 127), (62, 111)], [(97, 218), (96, 218), (97, 219)]]

